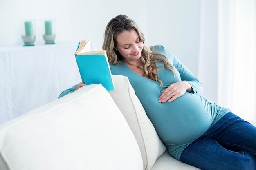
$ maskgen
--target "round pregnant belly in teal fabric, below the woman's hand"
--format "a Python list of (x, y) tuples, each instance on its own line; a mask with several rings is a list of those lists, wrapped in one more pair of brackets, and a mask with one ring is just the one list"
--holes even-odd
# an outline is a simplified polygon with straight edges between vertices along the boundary
[(186, 92), (173, 102), (150, 103), (144, 108), (165, 144), (187, 144), (194, 141), (209, 129), (213, 121), (212, 103), (198, 94)]

